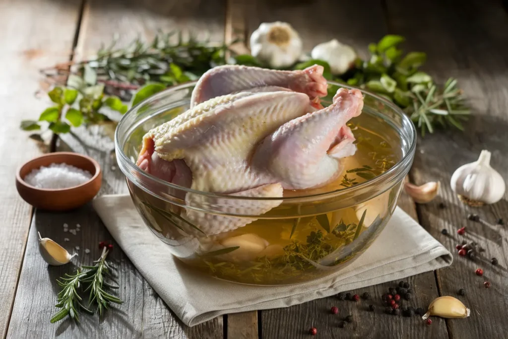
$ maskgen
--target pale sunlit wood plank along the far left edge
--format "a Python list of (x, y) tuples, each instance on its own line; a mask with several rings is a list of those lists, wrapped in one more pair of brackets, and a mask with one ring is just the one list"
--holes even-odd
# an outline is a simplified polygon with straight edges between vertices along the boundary
[(0, 41), (3, 102), (0, 124), (0, 337), (7, 334), (9, 317), (23, 260), (31, 207), (14, 186), (16, 169), (39, 155), (35, 142), (20, 132), (22, 119), (37, 119), (47, 103), (37, 100), (38, 69), (67, 61), (73, 45), (80, 2), (65, 5), (39, 0), (0, 1)]

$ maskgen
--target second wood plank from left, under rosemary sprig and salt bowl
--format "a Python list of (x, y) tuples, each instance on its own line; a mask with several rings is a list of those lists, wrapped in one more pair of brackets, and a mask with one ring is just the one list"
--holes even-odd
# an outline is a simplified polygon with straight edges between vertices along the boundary
[[(183, 3), (161, 3), (155, 1), (88, 1), (85, 4), (77, 57), (93, 54), (102, 43), (109, 43), (118, 33), (119, 44), (125, 44), (140, 36), (150, 39), (158, 29), (189, 29), (198, 36), (210, 36), (214, 41), (224, 39), (225, 6), (223, 2), (211, 4), (206, 1), (186, 1)], [(121, 172), (116, 167), (114, 145), (108, 133), (93, 127), (88, 130), (77, 129), (76, 135), (62, 136), (58, 150), (71, 150), (86, 153), (101, 164), (104, 176), (101, 194), (125, 193), (126, 186)], [(68, 223), (74, 229), (79, 223), (82, 231), (77, 235), (63, 233), (62, 224)], [(62, 337), (62, 338), (215, 338), (223, 337), (221, 317), (192, 328), (184, 326), (169, 310), (151, 287), (143, 280), (125, 254), (119, 249), (111, 253), (116, 263), (120, 286), (118, 294), (123, 299), (121, 305), (114, 305), (104, 319), (97, 316), (82, 316), (81, 324), (71, 321), (49, 324), (54, 312), (57, 293), (55, 279), (72, 267), (47, 267), (37, 253), (37, 231), (74, 249), (79, 253), (76, 263), (89, 264), (100, 255), (99, 241), (112, 241), (106, 228), (93, 211), (91, 205), (65, 213), (36, 211), (33, 227), (30, 230), (26, 256), (18, 288), (16, 312), (13, 314), (9, 337)], [(69, 241), (65, 241), (65, 238)], [(76, 248), (79, 247), (79, 249)], [(85, 249), (91, 252), (86, 254)], [(33, 302), (34, 286), (53, 286), (38, 295)], [(18, 302), (19, 299), (19, 302)], [(29, 315), (28, 325), (25, 323)]]

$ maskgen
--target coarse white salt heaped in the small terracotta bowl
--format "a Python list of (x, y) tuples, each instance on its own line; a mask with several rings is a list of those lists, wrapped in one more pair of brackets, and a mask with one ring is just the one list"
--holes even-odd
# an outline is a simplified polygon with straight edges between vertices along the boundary
[[(67, 189), (90, 180), (91, 173), (66, 163), (34, 169), (24, 177), (29, 185), (40, 189)], [(66, 224), (64, 224), (65, 227)]]

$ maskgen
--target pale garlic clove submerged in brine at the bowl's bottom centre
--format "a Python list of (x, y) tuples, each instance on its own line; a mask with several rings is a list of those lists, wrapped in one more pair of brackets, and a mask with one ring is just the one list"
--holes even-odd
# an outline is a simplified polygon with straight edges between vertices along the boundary
[(233, 260), (248, 261), (256, 259), (258, 254), (266, 249), (268, 241), (256, 234), (248, 233), (226, 238), (221, 240), (220, 244), (225, 248), (239, 246), (239, 249), (225, 254), (225, 256), (228, 256)]

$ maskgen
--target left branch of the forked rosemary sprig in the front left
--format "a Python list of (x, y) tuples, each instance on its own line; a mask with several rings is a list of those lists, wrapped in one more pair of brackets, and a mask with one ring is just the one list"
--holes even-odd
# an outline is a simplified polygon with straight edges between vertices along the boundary
[(67, 317), (67, 315), (79, 322), (79, 310), (93, 314), (93, 311), (90, 311), (81, 303), (82, 299), (78, 294), (78, 290), (81, 287), (81, 279), (84, 275), (86, 275), (86, 272), (78, 269), (75, 274), (65, 274), (63, 278), (56, 281), (62, 290), (58, 293), (58, 303), (55, 307), (61, 310), (51, 317), (51, 323), (55, 323)]

